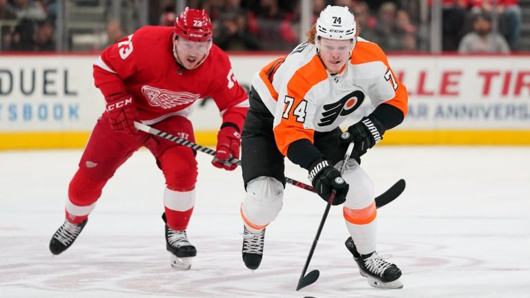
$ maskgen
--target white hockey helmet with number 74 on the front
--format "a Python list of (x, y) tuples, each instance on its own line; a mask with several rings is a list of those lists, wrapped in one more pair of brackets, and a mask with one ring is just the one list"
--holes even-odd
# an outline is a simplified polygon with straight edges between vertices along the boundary
[(326, 6), (316, 24), (317, 37), (328, 39), (355, 39), (357, 34), (357, 24), (353, 17), (353, 12), (346, 6)]

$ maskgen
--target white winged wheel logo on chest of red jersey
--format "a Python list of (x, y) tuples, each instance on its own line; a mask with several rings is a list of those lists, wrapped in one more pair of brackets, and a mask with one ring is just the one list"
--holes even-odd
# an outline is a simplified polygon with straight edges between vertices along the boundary
[(151, 106), (159, 106), (164, 109), (187, 105), (188, 103), (193, 103), (200, 98), (200, 95), (195, 93), (175, 92), (150, 86), (141, 87), (141, 92), (144, 94)]

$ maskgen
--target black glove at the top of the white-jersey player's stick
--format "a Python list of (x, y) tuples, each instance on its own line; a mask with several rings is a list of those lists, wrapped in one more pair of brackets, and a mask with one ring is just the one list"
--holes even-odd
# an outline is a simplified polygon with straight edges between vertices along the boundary
[(340, 135), (340, 139), (345, 146), (353, 142), (350, 158), (358, 159), (383, 139), (384, 131), (383, 124), (375, 117), (369, 116), (350, 126), (348, 131)]

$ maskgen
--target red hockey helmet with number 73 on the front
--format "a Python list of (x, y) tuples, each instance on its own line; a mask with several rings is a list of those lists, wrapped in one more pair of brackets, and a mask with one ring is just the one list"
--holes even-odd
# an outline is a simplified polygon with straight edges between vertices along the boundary
[(185, 8), (175, 19), (175, 33), (190, 41), (204, 42), (212, 38), (213, 26), (206, 10)]

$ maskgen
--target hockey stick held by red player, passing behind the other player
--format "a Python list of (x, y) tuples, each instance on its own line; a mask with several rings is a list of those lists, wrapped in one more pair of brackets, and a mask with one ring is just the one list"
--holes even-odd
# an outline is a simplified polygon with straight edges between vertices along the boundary
[[(135, 128), (137, 130), (141, 130), (143, 132), (147, 132), (151, 135), (156, 135), (158, 137), (168, 139), (169, 141), (173, 141), (175, 143), (179, 143), (182, 146), (186, 146), (188, 148), (192, 148), (193, 150), (197, 150), (200, 152), (204, 152), (208, 155), (215, 156), (215, 150), (210, 149), (208, 147), (201, 146), (197, 143), (193, 143), (190, 141), (187, 141), (186, 139), (182, 139), (179, 137), (175, 137), (174, 135), (170, 135), (167, 132), (161, 132), (160, 130), (157, 130), (156, 128), (152, 128), (150, 126), (147, 126), (145, 124), (139, 123), (135, 121)], [(241, 161), (239, 159), (230, 158), (228, 159), (230, 163), (235, 163), (238, 166), (241, 166)], [(297, 186), (299, 188), (303, 188), (304, 190), (309, 190), (311, 192), (316, 192), (315, 188), (312, 186), (308, 186), (306, 183), (296, 181), (295, 179), (291, 179), (288, 177), (285, 177), (286, 183), (292, 184), (293, 186)], [(391, 186), (386, 192), (383, 192), (382, 195), (375, 197), (375, 206), (377, 208), (380, 208), (382, 206), (385, 206), (387, 203), (390, 203), (395, 198), (399, 197), (401, 193), (405, 190), (405, 181), (403, 179), (398, 180), (396, 183), (394, 183), (393, 186)]]

